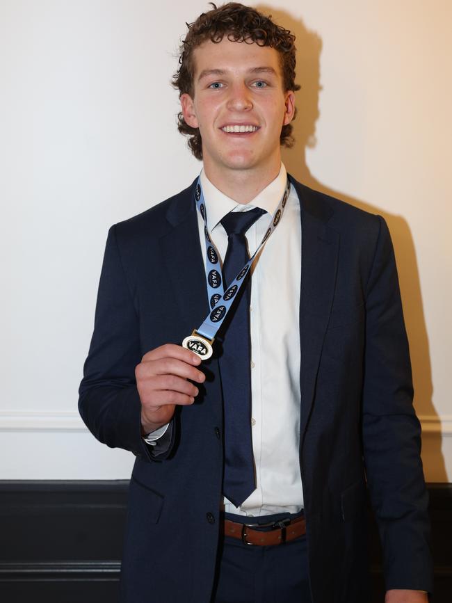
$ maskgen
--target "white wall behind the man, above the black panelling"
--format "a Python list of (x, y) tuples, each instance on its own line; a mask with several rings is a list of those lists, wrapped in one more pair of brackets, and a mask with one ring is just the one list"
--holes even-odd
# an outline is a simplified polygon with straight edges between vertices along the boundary
[[(253, 4), (297, 35), (286, 166), (389, 223), (426, 476), (452, 481), (452, 3)], [(0, 1), (0, 479), (129, 476), (133, 456), (86, 432), (76, 392), (108, 227), (200, 169), (169, 80), (207, 8)]]

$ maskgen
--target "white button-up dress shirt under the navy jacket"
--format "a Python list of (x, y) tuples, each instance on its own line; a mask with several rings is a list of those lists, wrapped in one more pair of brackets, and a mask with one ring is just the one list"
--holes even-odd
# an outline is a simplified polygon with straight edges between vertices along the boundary
[[(207, 227), (222, 259), (227, 234), (220, 220), (229, 211), (267, 211), (246, 233), (252, 255), (264, 236), (286, 184), (286, 168), (248, 204), (236, 203), (213, 186), (204, 170), (202, 191)], [(204, 222), (198, 227), (205, 263)], [(300, 476), (300, 204), (291, 186), (280, 224), (252, 265), (250, 335), (252, 448), (256, 490), (228, 513), (259, 516), (297, 513), (303, 507)], [(228, 283), (225, 283), (225, 289)]]

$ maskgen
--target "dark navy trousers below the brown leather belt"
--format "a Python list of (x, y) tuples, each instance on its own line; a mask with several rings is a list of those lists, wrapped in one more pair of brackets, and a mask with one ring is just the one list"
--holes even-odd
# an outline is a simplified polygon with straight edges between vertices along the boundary
[[(272, 515), (271, 519), (253, 517), (252, 522), (273, 521), (273, 517), (277, 521), (284, 515)], [(250, 517), (227, 518), (251, 522)], [(306, 537), (259, 547), (223, 536), (212, 603), (312, 603)]]

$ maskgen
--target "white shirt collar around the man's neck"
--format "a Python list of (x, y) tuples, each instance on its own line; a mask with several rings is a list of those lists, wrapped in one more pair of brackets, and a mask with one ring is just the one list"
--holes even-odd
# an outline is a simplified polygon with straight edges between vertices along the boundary
[(220, 220), (229, 214), (229, 211), (248, 211), (255, 207), (260, 207), (268, 214), (273, 215), (276, 210), (286, 186), (287, 172), (284, 163), (281, 163), (280, 173), (272, 180), (263, 191), (255, 196), (249, 203), (237, 203), (225, 193), (214, 186), (207, 178), (204, 168), (201, 170), (200, 180), (204, 202), (207, 209), (207, 229), (212, 232), (220, 223)]

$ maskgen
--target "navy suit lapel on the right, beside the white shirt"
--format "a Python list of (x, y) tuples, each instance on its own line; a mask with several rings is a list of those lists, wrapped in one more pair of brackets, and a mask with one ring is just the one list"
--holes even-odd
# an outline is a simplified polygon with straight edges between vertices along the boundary
[(301, 204), (300, 434), (303, 437), (314, 401), (318, 364), (334, 296), (339, 233), (326, 224), (332, 209), (321, 195), (293, 179), (292, 182)]

